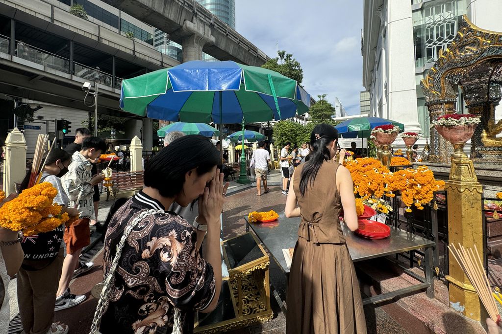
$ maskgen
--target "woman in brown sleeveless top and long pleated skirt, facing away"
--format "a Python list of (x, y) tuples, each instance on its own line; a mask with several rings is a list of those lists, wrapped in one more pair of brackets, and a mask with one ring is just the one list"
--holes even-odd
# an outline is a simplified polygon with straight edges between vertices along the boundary
[(366, 332), (354, 264), (338, 221), (343, 208), (347, 227), (358, 227), (352, 178), (332, 160), (337, 139), (333, 126), (316, 125), (310, 159), (291, 178), (286, 216), (302, 220), (289, 276), (288, 334)]

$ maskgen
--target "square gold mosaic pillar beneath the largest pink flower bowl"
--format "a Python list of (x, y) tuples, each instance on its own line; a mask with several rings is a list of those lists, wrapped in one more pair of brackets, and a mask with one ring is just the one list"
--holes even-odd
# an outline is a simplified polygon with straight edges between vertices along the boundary
[[(460, 154), (461, 152), (461, 154)], [(482, 186), (477, 181), (472, 161), (462, 150), (451, 155), (450, 177), (445, 185), (448, 194), (448, 242), (458, 246), (483, 249), (481, 212)], [(451, 255), (448, 256), (450, 307), (479, 321), (481, 302), (469, 278)], [(484, 308), (483, 308), (484, 309)], [(486, 311), (483, 311), (484, 314)], [(486, 316), (483, 315), (483, 319)]]

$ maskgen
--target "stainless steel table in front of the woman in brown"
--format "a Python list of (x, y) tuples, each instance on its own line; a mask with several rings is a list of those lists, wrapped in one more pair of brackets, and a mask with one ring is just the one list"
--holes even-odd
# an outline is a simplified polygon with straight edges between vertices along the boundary
[[(249, 231), (249, 228), (253, 230), (265, 248), (267, 248), (279, 268), (285, 274), (288, 274), (289, 269), (282, 250), (283, 248), (295, 246), (296, 240), (298, 239), (298, 226), (301, 218), (286, 218), (284, 212), (282, 212), (279, 214), (279, 219), (272, 223), (249, 223), (247, 217), (245, 217), (245, 219), (246, 231)], [(363, 304), (390, 300), (396, 296), (422, 289), (427, 289), (426, 293), (428, 297), (434, 297), (434, 277), (432, 273), (432, 247), (436, 245), (434, 241), (395, 227), (391, 227), (391, 236), (389, 238), (380, 240), (370, 240), (359, 237), (350, 232), (345, 225), (343, 225), (343, 235), (345, 236), (350, 256), (354, 262), (424, 248), (425, 278), (398, 264), (408, 275), (420, 281), (419, 284), (363, 298)]]

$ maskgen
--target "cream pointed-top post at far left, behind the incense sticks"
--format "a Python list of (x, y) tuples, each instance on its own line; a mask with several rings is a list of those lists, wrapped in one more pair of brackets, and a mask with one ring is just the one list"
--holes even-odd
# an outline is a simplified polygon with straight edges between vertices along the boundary
[(25, 136), (15, 128), (5, 141), (4, 191), (7, 196), (16, 192), (14, 183), (20, 183), (25, 177), (27, 150)]

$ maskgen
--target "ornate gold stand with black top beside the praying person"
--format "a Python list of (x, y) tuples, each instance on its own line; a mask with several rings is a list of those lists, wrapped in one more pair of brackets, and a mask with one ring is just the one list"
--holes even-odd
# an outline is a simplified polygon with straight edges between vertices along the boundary
[(269, 256), (252, 233), (222, 242), (229, 277), (222, 282), (218, 305), (195, 317), (196, 333), (219, 333), (273, 317), (270, 306)]

